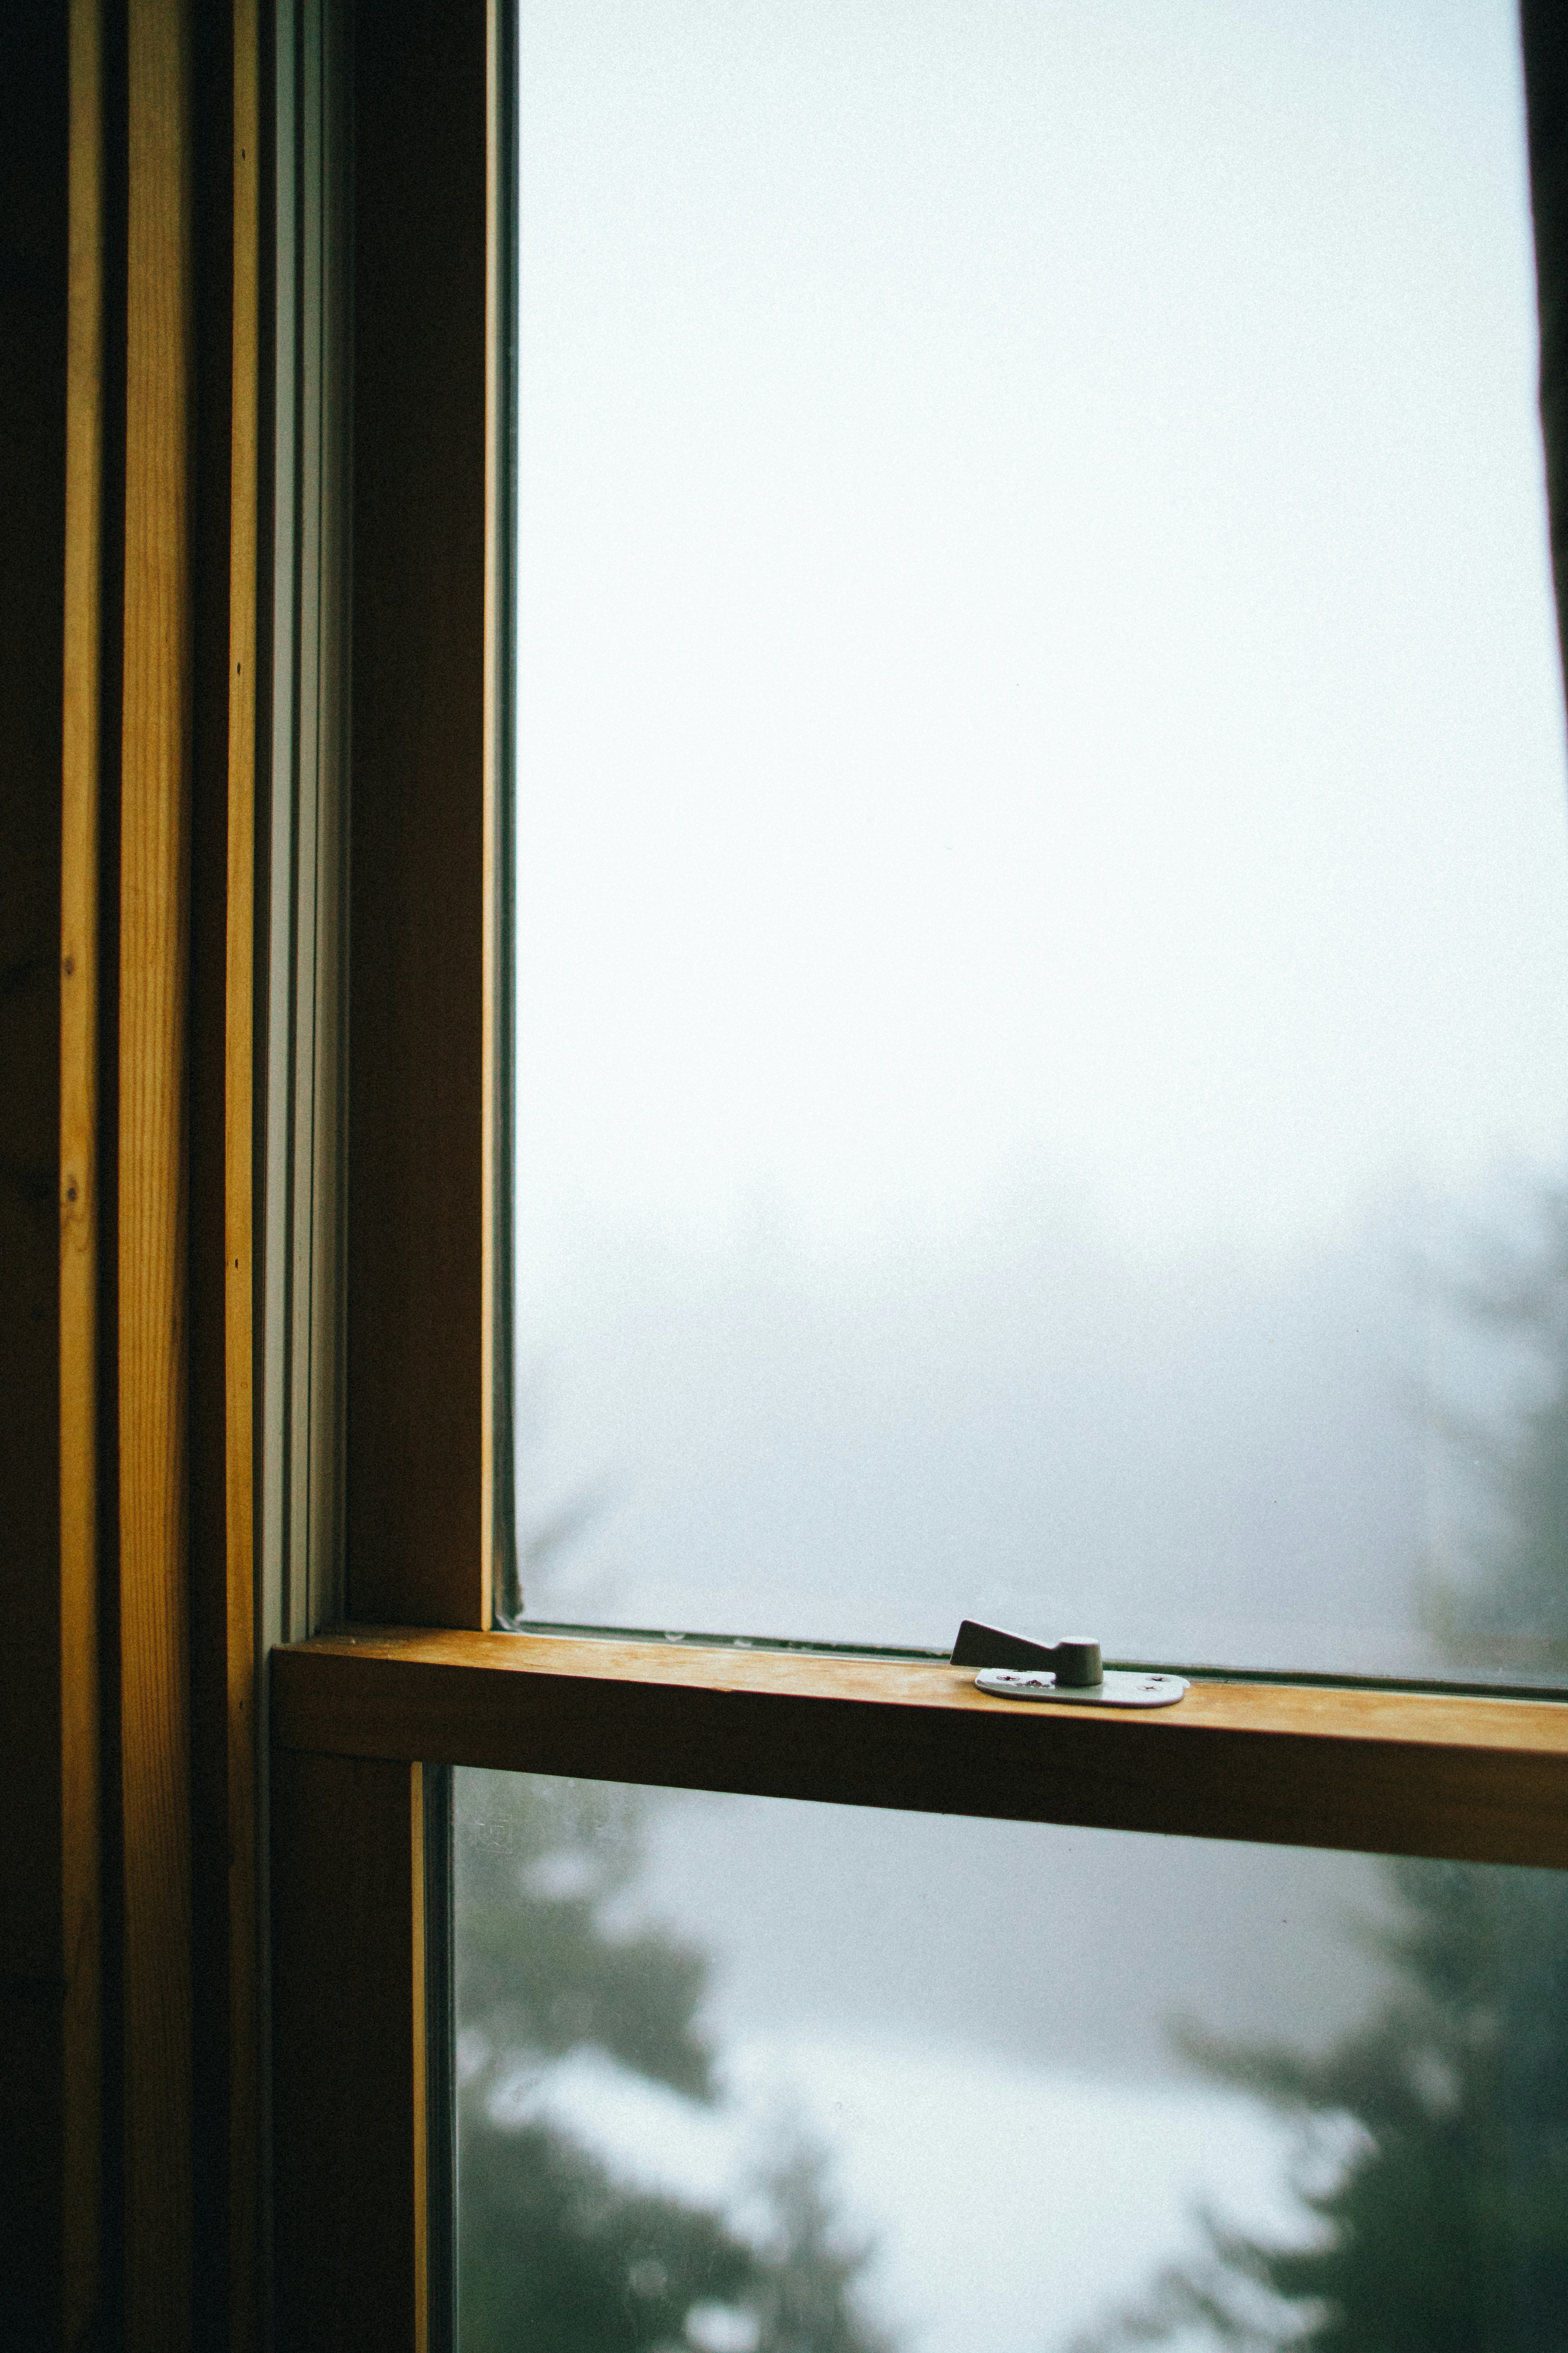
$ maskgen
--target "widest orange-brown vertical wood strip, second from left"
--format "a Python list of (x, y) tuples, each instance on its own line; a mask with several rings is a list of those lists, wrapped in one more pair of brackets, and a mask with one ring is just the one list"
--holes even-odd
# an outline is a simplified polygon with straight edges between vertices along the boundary
[(190, 2341), (186, 972), (193, 214), (186, 0), (127, 21), (120, 802), (125, 2329)]

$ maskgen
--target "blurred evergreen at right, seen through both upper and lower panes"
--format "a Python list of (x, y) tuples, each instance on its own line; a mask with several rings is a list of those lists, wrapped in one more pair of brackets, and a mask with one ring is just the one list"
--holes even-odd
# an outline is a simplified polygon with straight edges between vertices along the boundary
[[(1467, 1306), (1535, 1358), (1528, 1402), (1467, 1428), (1490, 1485), (1483, 1574), (1439, 1595), (1479, 1645), (1568, 1659), (1568, 1193), (1537, 1252), (1500, 1254)], [(1074, 2353), (1182, 2337), (1262, 2353), (1563, 2353), (1568, 2346), (1568, 1873), (1389, 1861), (1396, 1922), (1375, 1944), (1385, 2005), (1333, 2049), (1182, 2035), (1204, 2073), (1300, 2127), (1295, 2186), (1314, 2242), (1267, 2245), (1204, 2219)]]

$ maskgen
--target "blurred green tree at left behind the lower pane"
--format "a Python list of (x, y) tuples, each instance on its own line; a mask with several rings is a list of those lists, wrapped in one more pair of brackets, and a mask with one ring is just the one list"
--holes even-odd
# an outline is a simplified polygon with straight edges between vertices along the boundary
[(696, 2026), (703, 1955), (614, 1920), (649, 1805), (609, 1784), (463, 1779), (461, 2348), (884, 2353), (853, 2306), (867, 2249), (839, 2240), (809, 2139), (785, 2139), (764, 2169), (750, 2238), (712, 2207), (628, 2186), (529, 2097), (552, 2061), (599, 2049), (684, 2099), (715, 2099)]

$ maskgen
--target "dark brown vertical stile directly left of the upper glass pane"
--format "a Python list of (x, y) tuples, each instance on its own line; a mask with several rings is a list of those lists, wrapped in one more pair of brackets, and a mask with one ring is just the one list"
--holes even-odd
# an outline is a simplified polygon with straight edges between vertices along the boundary
[(348, 1614), (477, 1628), (484, 0), (381, 0), (353, 101)]

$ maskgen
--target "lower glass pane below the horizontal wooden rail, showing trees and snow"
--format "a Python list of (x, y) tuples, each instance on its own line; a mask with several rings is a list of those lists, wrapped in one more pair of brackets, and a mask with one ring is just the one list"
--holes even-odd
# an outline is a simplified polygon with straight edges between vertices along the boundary
[(1568, 1875), (456, 1777), (463, 2353), (1547, 2353)]

